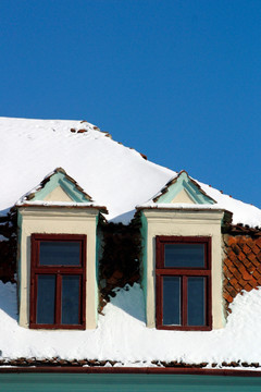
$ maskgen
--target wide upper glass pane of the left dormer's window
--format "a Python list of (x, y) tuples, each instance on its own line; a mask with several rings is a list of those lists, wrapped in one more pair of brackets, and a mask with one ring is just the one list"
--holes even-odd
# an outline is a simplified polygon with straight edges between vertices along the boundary
[(79, 266), (79, 242), (40, 242), (40, 266)]

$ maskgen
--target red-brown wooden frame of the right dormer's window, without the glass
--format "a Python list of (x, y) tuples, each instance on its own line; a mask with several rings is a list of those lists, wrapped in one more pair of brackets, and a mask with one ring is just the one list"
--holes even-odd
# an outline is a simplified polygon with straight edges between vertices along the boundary
[[(164, 246), (166, 244), (203, 244), (204, 267), (164, 267)], [(181, 326), (163, 324), (163, 277), (182, 278)], [(187, 326), (187, 278), (206, 277), (206, 326)], [(156, 236), (156, 327), (164, 330), (210, 331), (212, 329), (211, 295), (211, 237), (207, 236)]]

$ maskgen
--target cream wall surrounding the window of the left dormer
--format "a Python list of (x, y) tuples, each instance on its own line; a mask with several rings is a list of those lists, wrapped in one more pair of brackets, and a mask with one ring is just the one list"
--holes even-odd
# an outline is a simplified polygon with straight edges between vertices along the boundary
[(21, 207), (22, 232), (20, 243), (20, 326), (29, 326), (29, 284), (30, 284), (30, 235), (47, 234), (86, 234), (86, 328), (97, 326), (97, 277), (96, 277), (96, 209), (83, 208), (37, 208)]

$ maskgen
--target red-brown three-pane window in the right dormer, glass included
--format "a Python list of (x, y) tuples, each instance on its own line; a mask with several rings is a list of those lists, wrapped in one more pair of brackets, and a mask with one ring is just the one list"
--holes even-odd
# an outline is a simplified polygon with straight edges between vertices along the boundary
[(211, 330), (210, 237), (157, 236), (157, 328)]

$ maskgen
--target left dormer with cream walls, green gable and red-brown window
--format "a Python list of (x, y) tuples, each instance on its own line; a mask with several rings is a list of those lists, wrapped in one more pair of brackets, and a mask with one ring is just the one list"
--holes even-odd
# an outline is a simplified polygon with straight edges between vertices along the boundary
[(97, 224), (94, 203), (55, 169), (16, 204), (20, 226), (20, 324), (35, 329), (97, 326)]

